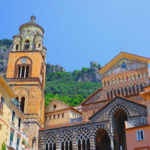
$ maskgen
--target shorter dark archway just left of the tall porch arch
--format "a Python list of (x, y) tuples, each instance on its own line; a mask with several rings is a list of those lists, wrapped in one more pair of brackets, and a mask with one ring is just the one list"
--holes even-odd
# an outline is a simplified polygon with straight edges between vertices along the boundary
[(96, 135), (96, 150), (111, 150), (110, 138), (106, 130), (99, 129)]

